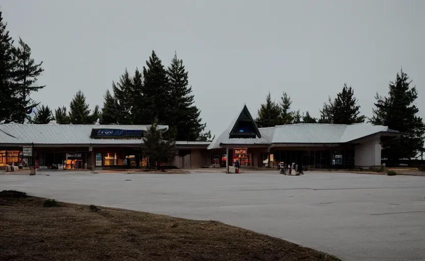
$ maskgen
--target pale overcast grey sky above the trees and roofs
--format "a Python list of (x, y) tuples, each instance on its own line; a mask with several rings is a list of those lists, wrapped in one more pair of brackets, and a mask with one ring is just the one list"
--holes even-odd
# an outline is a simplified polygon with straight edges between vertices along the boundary
[(256, 117), (268, 91), (319, 116), (343, 83), (371, 116), (374, 94), (403, 66), (425, 117), (423, 0), (6, 0), (8, 30), (43, 61), (34, 95), (53, 108), (83, 90), (103, 105), (125, 67), (140, 69), (152, 49), (168, 66), (177, 51), (189, 71), (207, 129), (220, 134), (244, 102)]

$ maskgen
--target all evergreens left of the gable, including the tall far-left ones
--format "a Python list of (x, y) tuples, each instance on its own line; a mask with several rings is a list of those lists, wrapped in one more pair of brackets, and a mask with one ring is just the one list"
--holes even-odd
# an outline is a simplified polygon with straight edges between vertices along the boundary
[[(47, 124), (163, 124), (169, 125), (167, 138), (180, 141), (211, 140), (204, 132), (200, 110), (188, 82), (183, 61), (175, 54), (170, 66), (162, 65), (152, 51), (146, 66), (133, 75), (125, 70), (119, 81), (106, 91), (103, 108), (91, 111), (84, 93), (78, 91), (65, 106), (52, 110), (31, 99), (31, 93), (44, 88), (36, 86), (43, 69), (31, 58), (31, 49), (21, 39), (15, 47), (7, 23), (0, 12), (0, 123)], [(36, 108), (34, 117), (29, 114)]]

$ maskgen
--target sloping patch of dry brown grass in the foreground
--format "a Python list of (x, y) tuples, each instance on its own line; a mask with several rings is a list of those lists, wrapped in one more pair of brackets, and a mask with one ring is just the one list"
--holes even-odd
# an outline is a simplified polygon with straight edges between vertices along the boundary
[(339, 260), (216, 221), (0, 193), (0, 260)]

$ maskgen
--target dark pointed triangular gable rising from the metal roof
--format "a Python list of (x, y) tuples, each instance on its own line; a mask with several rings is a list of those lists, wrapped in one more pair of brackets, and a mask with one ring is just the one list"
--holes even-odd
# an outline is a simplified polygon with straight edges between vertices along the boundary
[(261, 138), (261, 134), (259, 133), (258, 127), (252, 119), (248, 108), (244, 105), (244, 109), (242, 109), (238, 119), (229, 133), (229, 138), (255, 139), (256, 137)]

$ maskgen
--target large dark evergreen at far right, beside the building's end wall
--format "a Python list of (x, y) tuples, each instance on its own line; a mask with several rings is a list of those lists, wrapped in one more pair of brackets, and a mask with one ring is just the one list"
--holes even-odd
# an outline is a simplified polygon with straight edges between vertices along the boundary
[(383, 144), (383, 156), (390, 163), (399, 159), (412, 159), (423, 151), (425, 125), (417, 116), (419, 109), (415, 105), (418, 97), (416, 86), (411, 87), (408, 75), (402, 70), (395, 81), (390, 82), (388, 97), (376, 93), (376, 109), (369, 119), (374, 125), (388, 126), (400, 132), (395, 139)]

